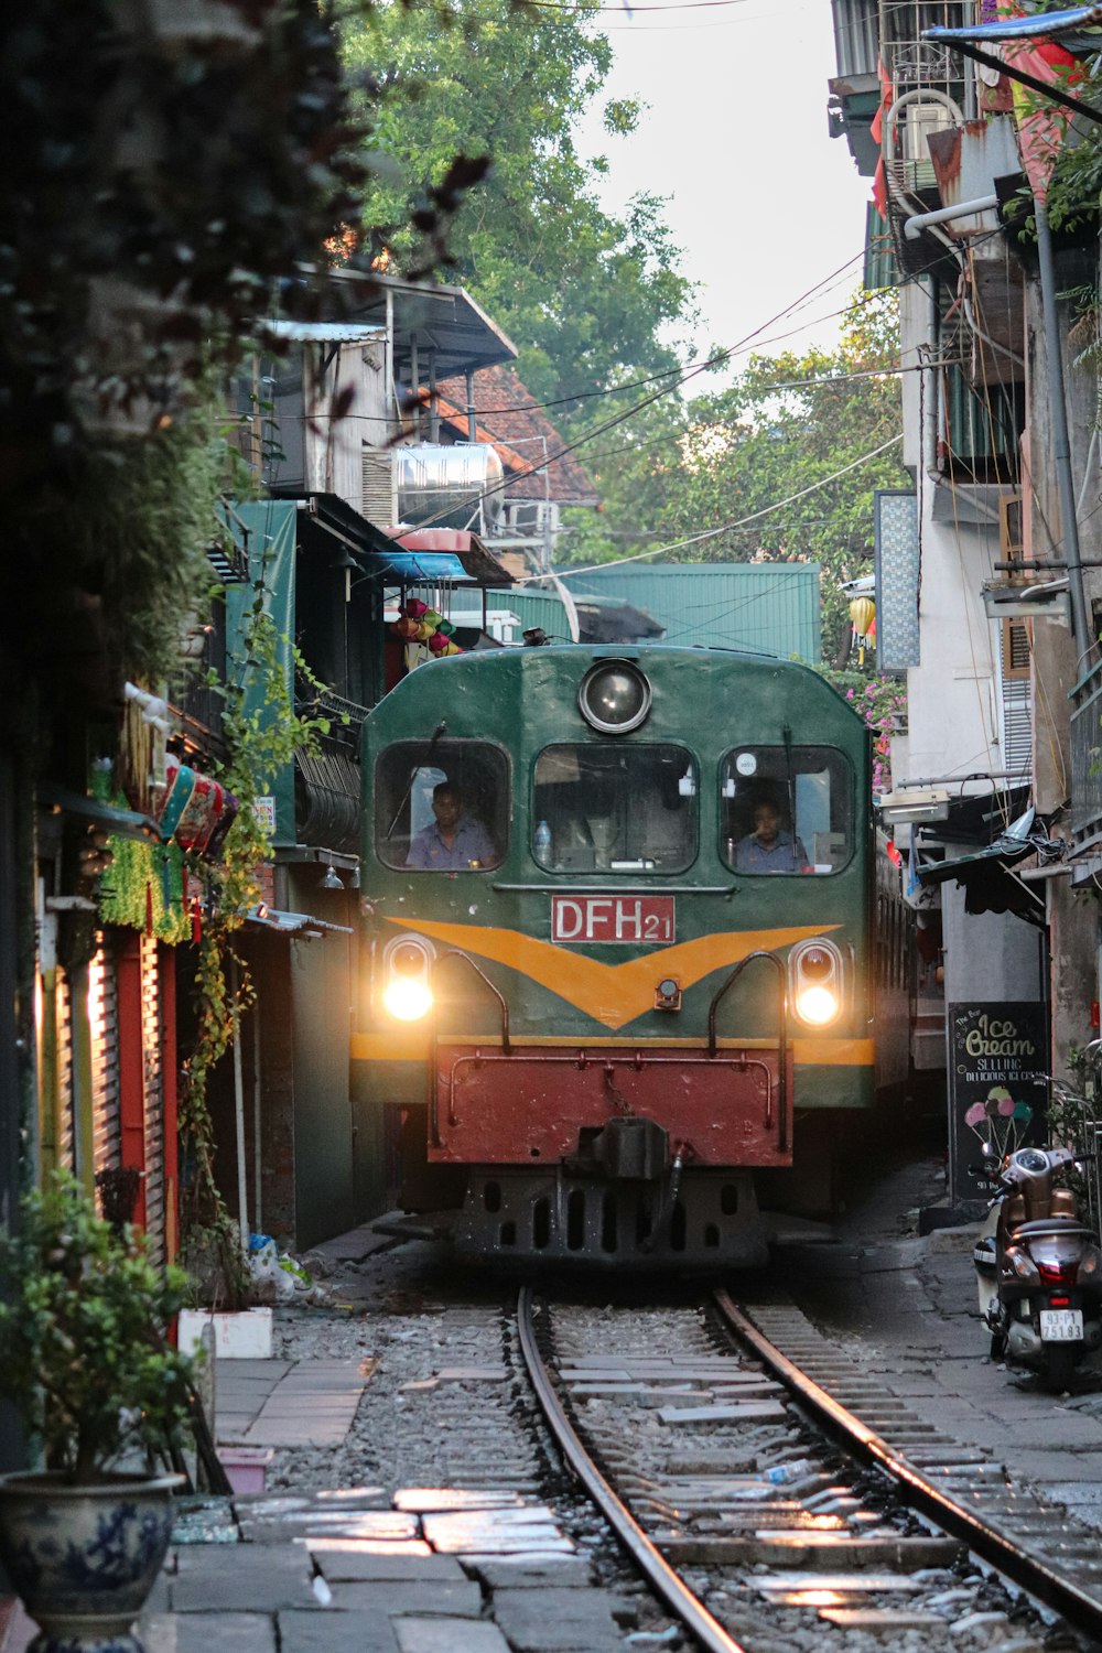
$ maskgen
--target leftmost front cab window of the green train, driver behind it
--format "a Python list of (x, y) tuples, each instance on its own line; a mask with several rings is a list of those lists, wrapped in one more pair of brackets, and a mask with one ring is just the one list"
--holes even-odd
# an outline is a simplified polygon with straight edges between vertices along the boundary
[(375, 764), (375, 853), (416, 873), (481, 873), (509, 850), (509, 759), (489, 741), (400, 741)]

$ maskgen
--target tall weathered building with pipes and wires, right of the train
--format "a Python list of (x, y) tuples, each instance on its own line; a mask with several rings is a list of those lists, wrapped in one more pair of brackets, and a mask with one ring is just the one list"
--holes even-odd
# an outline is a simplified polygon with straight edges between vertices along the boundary
[[(950, 1012), (1041, 1007), (1041, 1073), (1085, 1043), (1099, 998), (1095, 901), (1082, 889), (1102, 865), (1102, 793), (1089, 739), (1072, 741), (1085, 717), (1097, 744), (1097, 709), (1085, 711), (1097, 683), (1084, 676), (1097, 575), (1072, 569), (1069, 602), (1066, 509), (1072, 474), (1082, 562), (1097, 562), (1099, 522), (1084, 509), (1097, 491), (1097, 385), (1072, 367), (1057, 298), (1095, 289), (1097, 253), (1069, 236), (1054, 286), (1043, 279), (1013, 81), (998, 63), (978, 68), (952, 33), (973, 7), (833, 0), (833, 131), (871, 182), (866, 281), (899, 284), (914, 478), (910, 493), (879, 496), (876, 522), (877, 666), (905, 673), (909, 701), (879, 800), (900, 850), (889, 876), (940, 929)], [(945, 1023), (952, 1091), (952, 1013)]]

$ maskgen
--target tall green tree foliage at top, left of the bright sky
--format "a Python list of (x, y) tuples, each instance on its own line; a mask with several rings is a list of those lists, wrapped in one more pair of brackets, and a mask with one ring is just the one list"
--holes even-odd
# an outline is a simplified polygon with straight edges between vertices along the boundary
[[(595, 3), (484, 0), (474, 12), (388, 0), (344, 30), (345, 61), (370, 86), (360, 94), (372, 122), (370, 251), (385, 245), (408, 269), (421, 256), (418, 212), (454, 155), (489, 157), (449, 225), (449, 269), (515, 341), (522, 377), (549, 398), (669, 367), (663, 329), (691, 304), (661, 202), (639, 195), (623, 218), (606, 213), (596, 195), (605, 162), (577, 149), (611, 64), (596, 15)], [(620, 99), (603, 114), (623, 141), (639, 109)]]

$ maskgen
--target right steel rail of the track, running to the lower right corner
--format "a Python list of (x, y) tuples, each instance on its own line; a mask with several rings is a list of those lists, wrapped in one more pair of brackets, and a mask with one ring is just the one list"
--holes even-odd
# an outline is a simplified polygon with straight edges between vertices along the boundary
[(714, 1301), (739, 1341), (770, 1367), (800, 1403), (806, 1405), (833, 1435), (841, 1436), (851, 1451), (874, 1463), (891, 1476), (905, 1491), (907, 1501), (912, 1506), (930, 1516), (945, 1532), (962, 1539), (968, 1549), (1021, 1585), (1029, 1595), (1062, 1613), (1079, 1630), (1085, 1630), (1094, 1636), (1102, 1635), (1102, 1598), (1089, 1595), (1069, 1579), (1061, 1577), (1039, 1555), (1023, 1549), (1021, 1544), (995, 1531), (995, 1527), (988, 1527), (980, 1516), (955, 1503), (932, 1481), (927, 1481), (876, 1430), (871, 1430), (867, 1423), (854, 1417), (848, 1407), (843, 1407), (833, 1395), (828, 1395), (815, 1379), (808, 1377), (806, 1372), (801, 1372), (793, 1360), (781, 1354), (742, 1309), (732, 1303), (727, 1291), (722, 1288), (715, 1291)]

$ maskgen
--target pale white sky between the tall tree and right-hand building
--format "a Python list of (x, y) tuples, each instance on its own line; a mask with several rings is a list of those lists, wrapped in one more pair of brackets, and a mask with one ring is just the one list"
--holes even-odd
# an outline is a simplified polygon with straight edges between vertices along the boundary
[[(649, 0), (656, 3), (656, 0)], [(587, 127), (603, 154), (601, 198), (623, 210), (639, 190), (667, 197), (682, 273), (701, 283), (697, 350), (730, 347), (861, 253), (869, 179), (826, 129), (834, 74), (829, 0), (664, 0), (631, 15), (605, 0), (615, 68)], [(638, 131), (610, 137), (608, 98), (649, 107)], [(816, 322), (781, 347), (829, 347), (861, 260), (768, 336)]]

